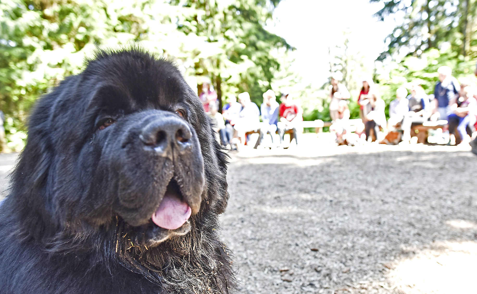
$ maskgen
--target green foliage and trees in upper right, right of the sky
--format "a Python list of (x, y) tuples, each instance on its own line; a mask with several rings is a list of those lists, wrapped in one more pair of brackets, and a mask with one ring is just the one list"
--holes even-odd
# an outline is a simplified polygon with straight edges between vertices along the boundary
[(397, 88), (409, 90), (411, 83), (421, 84), (427, 94), (433, 94), (437, 69), (443, 65), (449, 66), (456, 78), (476, 81), (472, 58), (477, 57), (477, 0), (370, 2), (383, 3), (375, 14), (379, 20), (390, 15), (402, 17), (402, 23), (386, 38), (387, 51), (378, 57), (382, 63), (375, 81), (386, 104), (395, 98)]

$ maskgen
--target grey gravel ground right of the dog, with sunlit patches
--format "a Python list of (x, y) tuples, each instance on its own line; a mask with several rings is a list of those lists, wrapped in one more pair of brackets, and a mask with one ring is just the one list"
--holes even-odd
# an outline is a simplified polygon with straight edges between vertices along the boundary
[(235, 156), (228, 174), (239, 293), (475, 289), (470, 152)]

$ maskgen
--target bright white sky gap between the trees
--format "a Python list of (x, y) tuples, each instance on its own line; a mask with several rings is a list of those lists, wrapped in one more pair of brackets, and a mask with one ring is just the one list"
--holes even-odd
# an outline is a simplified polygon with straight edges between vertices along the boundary
[(273, 14), (275, 26), (267, 29), (297, 48), (294, 69), (304, 81), (319, 87), (330, 76), (328, 46), (342, 43), (343, 30), (351, 32), (350, 46), (373, 68), (384, 51), (384, 38), (395, 27), (391, 18), (379, 22), (373, 17), (381, 7), (368, 0), (282, 0)]

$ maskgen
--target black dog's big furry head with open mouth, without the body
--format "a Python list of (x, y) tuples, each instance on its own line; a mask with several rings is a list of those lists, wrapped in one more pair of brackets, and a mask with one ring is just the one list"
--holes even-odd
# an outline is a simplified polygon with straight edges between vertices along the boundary
[(124, 223), (133, 242), (155, 246), (223, 212), (225, 164), (173, 64), (102, 51), (37, 103), (12, 195), (45, 232)]

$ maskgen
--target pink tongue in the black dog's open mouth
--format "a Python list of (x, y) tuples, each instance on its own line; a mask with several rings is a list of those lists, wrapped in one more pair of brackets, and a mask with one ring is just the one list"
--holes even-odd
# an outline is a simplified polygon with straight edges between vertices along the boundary
[(152, 215), (152, 221), (161, 228), (175, 230), (180, 228), (190, 217), (192, 210), (187, 203), (175, 194), (166, 193), (159, 208)]

